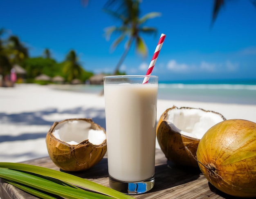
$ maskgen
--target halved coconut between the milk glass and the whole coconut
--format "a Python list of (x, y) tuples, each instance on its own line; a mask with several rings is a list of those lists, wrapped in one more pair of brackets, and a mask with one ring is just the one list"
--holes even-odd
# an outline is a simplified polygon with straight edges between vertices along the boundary
[(222, 114), (200, 108), (173, 106), (157, 123), (157, 141), (169, 161), (198, 167), (198, 143), (213, 125), (226, 120)]

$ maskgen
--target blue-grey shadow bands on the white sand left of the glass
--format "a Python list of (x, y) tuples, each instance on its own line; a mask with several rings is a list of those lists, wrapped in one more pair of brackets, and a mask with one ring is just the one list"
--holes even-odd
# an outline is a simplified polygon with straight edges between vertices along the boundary
[[(56, 121), (54, 118), (62, 118), (57, 121), (63, 120), (64, 114), (70, 115), (71, 118), (77, 118), (79, 114), (79, 118), (91, 118), (94, 123), (97, 123), (101, 127), (106, 129), (106, 123), (105, 123), (105, 110), (104, 109), (96, 109), (96, 108), (89, 108), (85, 109), (82, 107), (76, 107), (72, 109), (67, 109), (63, 111), (58, 111), (57, 109), (47, 109), (47, 110), (40, 110), (35, 112), (22, 112), (18, 114), (7, 114), (0, 112), (0, 125), (15, 125), (17, 128), (22, 126), (27, 126), (25, 129), (29, 129), (30, 126), (33, 125), (35, 127), (36, 125), (46, 125), (50, 127), (53, 125), (53, 123)], [(70, 118), (65, 118), (70, 119)], [(40, 131), (40, 130), (39, 130)], [(6, 141), (26, 141), (31, 139), (38, 139), (43, 138), (46, 136), (47, 132), (21, 132), (18, 135), (11, 135), (9, 132), (2, 131), (0, 134), (0, 143), (6, 142)]]

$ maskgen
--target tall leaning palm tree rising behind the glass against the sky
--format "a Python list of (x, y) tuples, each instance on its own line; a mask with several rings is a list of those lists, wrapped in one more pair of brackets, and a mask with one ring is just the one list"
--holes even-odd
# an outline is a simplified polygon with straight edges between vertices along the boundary
[[(113, 9), (117, 6), (117, 9)], [(119, 62), (116, 65), (114, 75), (119, 71), (119, 67), (123, 63), (128, 51), (130, 50), (132, 42), (135, 42), (136, 51), (142, 55), (146, 56), (148, 54), (146, 44), (144, 40), (139, 35), (140, 33), (145, 34), (156, 34), (157, 29), (154, 27), (143, 26), (144, 23), (150, 19), (160, 16), (158, 12), (150, 12), (139, 18), (139, 0), (108, 0), (104, 6), (104, 11), (109, 13), (117, 20), (121, 21), (121, 26), (112, 26), (106, 28), (106, 37), (109, 38), (113, 32), (121, 34), (112, 44), (115, 48), (117, 45), (123, 41), (126, 37), (128, 40), (125, 45), (125, 51), (122, 54)]]

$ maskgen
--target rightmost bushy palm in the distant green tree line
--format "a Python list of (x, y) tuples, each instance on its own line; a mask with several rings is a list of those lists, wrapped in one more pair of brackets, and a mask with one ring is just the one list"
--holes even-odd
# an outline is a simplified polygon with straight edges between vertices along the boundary
[(78, 62), (78, 58), (74, 50), (71, 50), (65, 59), (63, 72), (67, 74), (67, 80), (71, 82), (75, 78), (80, 78), (83, 69)]

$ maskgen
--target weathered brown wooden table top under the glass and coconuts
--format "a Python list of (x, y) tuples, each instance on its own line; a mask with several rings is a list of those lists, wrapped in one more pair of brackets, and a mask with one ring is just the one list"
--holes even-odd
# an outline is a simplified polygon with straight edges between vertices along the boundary
[[(25, 161), (31, 165), (43, 166), (54, 170), (59, 168), (49, 157)], [(103, 186), (108, 185), (107, 156), (89, 170), (83, 172), (72, 172), (76, 176), (94, 181)], [(132, 195), (138, 199), (235, 199), (211, 186), (200, 170), (193, 168), (182, 168), (167, 161), (164, 153), (157, 149), (155, 156), (155, 186), (152, 190), (141, 194)], [(0, 198), (2, 199), (35, 199), (22, 190), (0, 181)], [(241, 198), (239, 198), (241, 199)]]

